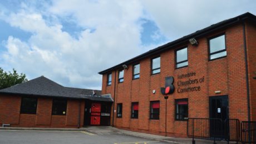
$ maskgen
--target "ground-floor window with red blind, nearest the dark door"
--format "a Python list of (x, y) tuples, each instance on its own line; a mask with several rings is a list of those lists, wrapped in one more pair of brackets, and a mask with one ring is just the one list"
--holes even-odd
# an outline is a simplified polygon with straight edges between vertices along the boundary
[(176, 120), (188, 120), (188, 99), (175, 100)]

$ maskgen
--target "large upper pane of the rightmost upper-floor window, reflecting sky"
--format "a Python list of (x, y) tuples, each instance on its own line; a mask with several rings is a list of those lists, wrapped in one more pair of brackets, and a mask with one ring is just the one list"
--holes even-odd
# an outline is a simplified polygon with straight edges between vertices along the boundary
[(210, 53), (225, 49), (225, 35), (210, 39)]

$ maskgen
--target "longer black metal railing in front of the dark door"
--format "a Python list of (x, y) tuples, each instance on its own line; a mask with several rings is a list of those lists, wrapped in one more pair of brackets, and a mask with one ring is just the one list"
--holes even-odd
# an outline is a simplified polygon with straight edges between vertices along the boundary
[(200, 138), (205, 140), (235, 141), (240, 140), (240, 122), (238, 119), (208, 119), (208, 118), (189, 118), (188, 137)]

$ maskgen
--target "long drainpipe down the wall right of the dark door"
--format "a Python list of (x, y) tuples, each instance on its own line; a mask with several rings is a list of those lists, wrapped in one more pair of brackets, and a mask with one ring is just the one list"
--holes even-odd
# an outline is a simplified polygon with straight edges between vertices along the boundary
[(243, 22), (243, 36), (244, 36), (244, 58), (245, 58), (245, 74), (246, 74), (246, 87), (247, 87), (247, 112), (248, 112), (248, 131), (249, 136), (248, 140), (250, 140), (250, 91), (249, 91), (249, 78), (248, 78), (248, 60), (247, 60), (247, 44), (246, 44), (246, 35), (245, 35), (245, 22)]

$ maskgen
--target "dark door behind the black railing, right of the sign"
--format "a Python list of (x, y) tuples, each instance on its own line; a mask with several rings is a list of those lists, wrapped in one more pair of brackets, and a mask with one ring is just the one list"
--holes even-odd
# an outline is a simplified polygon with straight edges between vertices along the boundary
[(210, 136), (220, 139), (228, 138), (229, 124), (228, 96), (211, 96), (209, 98)]

